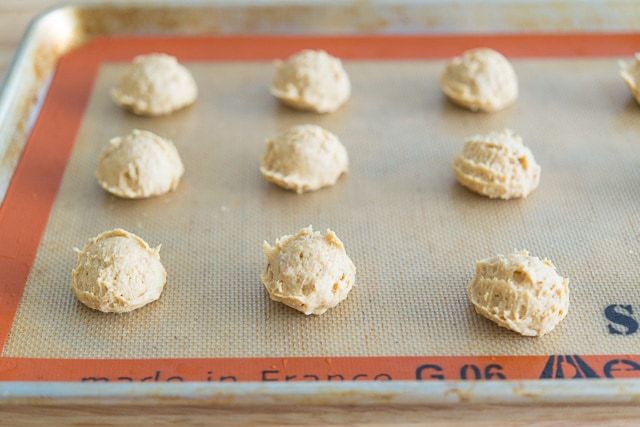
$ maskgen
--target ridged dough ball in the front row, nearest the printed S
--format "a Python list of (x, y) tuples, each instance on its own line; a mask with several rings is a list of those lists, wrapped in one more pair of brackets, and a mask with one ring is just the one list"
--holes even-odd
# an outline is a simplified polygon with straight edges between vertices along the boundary
[(527, 251), (478, 261), (468, 292), (478, 314), (527, 336), (551, 332), (569, 310), (569, 279)]

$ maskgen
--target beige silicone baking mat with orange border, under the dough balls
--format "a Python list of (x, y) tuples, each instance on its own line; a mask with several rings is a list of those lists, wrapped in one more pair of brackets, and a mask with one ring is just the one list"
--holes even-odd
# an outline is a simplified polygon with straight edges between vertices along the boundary
[[(475, 46), (513, 59), (516, 105), (477, 114), (438, 88), (443, 58)], [(64, 57), (0, 211), (1, 380), (284, 381), (640, 376), (640, 108), (616, 59), (630, 35), (102, 38)], [(282, 107), (271, 60), (300, 48), (345, 59), (351, 101), (330, 115)], [(169, 117), (118, 109), (135, 54), (177, 55), (200, 91)], [(351, 169), (297, 195), (258, 171), (292, 125), (336, 133)], [(525, 200), (456, 184), (466, 136), (511, 128), (542, 166)], [(175, 141), (178, 190), (121, 200), (94, 178), (102, 147), (134, 128)], [(349, 298), (306, 317), (269, 300), (263, 240), (330, 227), (358, 268)], [(78, 303), (73, 247), (122, 227), (162, 244), (161, 299), (126, 315)], [(474, 314), (475, 261), (513, 249), (571, 280), (569, 315), (521, 337)]]

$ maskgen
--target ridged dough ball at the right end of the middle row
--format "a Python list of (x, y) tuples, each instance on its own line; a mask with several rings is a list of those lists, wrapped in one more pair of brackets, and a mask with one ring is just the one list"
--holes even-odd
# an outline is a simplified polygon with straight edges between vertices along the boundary
[(522, 138), (509, 129), (468, 138), (453, 163), (458, 182), (500, 199), (527, 197), (540, 183), (540, 165)]

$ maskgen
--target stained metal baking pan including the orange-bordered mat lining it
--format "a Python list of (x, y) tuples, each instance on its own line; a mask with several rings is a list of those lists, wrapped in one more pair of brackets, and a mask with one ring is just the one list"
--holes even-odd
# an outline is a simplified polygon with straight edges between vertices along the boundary
[[(638, 50), (639, 23), (623, 1), (43, 14), (0, 100), (3, 410), (55, 407), (79, 423), (112, 405), (132, 423), (186, 407), (247, 423), (640, 417), (640, 110), (616, 64)], [(512, 59), (515, 106), (474, 114), (443, 99), (444, 59), (476, 46)], [(272, 61), (302, 48), (344, 59), (353, 96), (340, 111), (296, 112), (269, 95)], [(157, 51), (190, 69), (197, 104), (163, 118), (119, 110), (109, 89), (126, 62)], [(265, 138), (301, 123), (347, 147), (335, 187), (296, 195), (261, 178)], [(504, 127), (542, 165), (525, 200), (485, 200), (452, 176), (466, 136)], [(176, 192), (126, 201), (95, 182), (103, 145), (134, 128), (175, 141)], [(350, 297), (321, 317), (271, 302), (259, 281), (262, 240), (309, 224), (334, 229), (358, 267)], [(72, 248), (114, 227), (161, 243), (169, 274), (158, 302), (123, 316), (69, 292)], [(539, 339), (466, 299), (476, 259), (521, 248), (571, 279), (567, 319)]]

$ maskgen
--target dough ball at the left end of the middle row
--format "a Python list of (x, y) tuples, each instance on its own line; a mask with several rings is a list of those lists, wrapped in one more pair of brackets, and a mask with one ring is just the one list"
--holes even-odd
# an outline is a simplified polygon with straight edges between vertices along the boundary
[(111, 194), (141, 199), (175, 190), (183, 173), (171, 141), (136, 129), (109, 141), (100, 154), (96, 178)]

